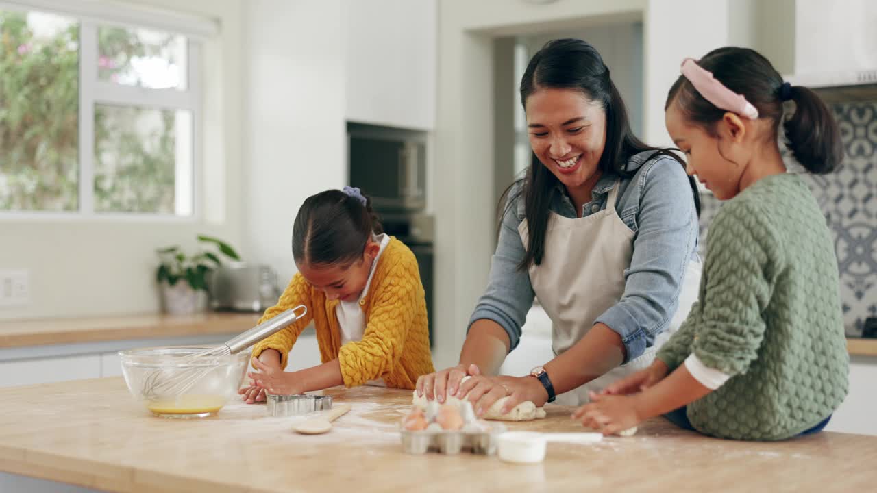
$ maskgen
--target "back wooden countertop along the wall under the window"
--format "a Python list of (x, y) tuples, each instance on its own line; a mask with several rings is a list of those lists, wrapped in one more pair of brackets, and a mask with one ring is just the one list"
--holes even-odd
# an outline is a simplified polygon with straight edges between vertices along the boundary
[(41, 318), (0, 322), (0, 348), (244, 332), (260, 313)]

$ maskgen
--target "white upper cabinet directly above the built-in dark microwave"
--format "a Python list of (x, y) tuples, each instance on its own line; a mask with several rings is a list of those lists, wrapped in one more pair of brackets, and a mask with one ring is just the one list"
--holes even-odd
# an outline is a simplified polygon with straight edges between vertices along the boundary
[(435, 126), (435, 0), (346, 0), (346, 119)]

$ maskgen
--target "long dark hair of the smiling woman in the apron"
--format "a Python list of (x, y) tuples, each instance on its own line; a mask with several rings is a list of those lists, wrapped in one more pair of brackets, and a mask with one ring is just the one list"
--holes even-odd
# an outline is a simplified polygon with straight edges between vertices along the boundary
[[(647, 146), (633, 134), (627, 119), (627, 109), (624, 107), (621, 94), (612, 83), (609, 68), (603, 63), (594, 46), (587, 42), (581, 39), (554, 39), (542, 46), (542, 49), (530, 59), (530, 64), (527, 65), (521, 78), (521, 104), (524, 104), (524, 108), (527, 97), (540, 88), (578, 89), (589, 100), (601, 104), (606, 113), (606, 143), (597, 168), (604, 175), (632, 175), (635, 170), (631, 172), (627, 169), (631, 156), (650, 150), (655, 153), (649, 159), (667, 155), (679, 161), (683, 168), (685, 167), (685, 163), (673, 154), (671, 149)], [(691, 184), (695, 208), (699, 215), (701, 202), (697, 185), (691, 177), (688, 177), (688, 182)], [(534, 263), (539, 265), (545, 256), (549, 202), (551, 191), (558, 183), (558, 179), (548, 168), (545, 168), (535, 153), (531, 153), (527, 174), (512, 183), (503, 193), (503, 197), (508, 196), (509, 191), (518, 183), (523, 186), (517, 189), (516, 196), (511, 196), (506, 202), (506, 208), (515, 202), (517, 195), (524, 195), (524, 211), (529, 235), (527, 253), (517, 268), (525, 270)], [(502, 204), (503, 198), (500, 200)]]

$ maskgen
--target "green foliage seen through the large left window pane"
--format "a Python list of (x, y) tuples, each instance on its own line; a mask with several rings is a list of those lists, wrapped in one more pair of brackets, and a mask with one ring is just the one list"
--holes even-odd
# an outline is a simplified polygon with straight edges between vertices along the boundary
[(75, 211), (79, 26), (37, 42), (0, 11), (0, 210)]

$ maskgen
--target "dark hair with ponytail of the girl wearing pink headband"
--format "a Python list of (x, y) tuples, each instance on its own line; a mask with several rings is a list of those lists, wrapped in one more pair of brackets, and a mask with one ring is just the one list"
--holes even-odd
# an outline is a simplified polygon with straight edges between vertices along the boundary
[[(770, 118), (774, 123), (774, 139), (782, 121), (782, 102), (786, 96), (795, 102), (795, 113), (783, 124), (786, 147), (810, 173), (824, 174), (838, 168), (844, 156), (838, 124), (828, 107), (812, 90), (803, 86), (788, 87), (783, 95), (782, 76), (770, 61), (749, 48), (726, 46), (706, 54), (697, 62), (712, 72), (718, 82), (737, 94), (759, 111), (759, 118)], [(711, 135), (715, 123), (726, 112), (709, 103), (684, 75), (680, 75), (667, 94), (665, 110), (677, 101), (682, 115)]]

